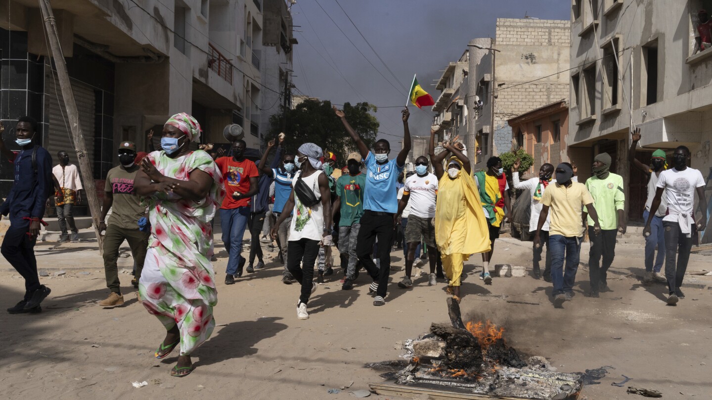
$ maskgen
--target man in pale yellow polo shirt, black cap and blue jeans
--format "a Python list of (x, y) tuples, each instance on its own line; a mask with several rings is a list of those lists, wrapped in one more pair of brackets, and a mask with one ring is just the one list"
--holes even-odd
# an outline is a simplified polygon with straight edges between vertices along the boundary
[[(584, 231), (582, 206), (586, 207), (594, 223), (594, 235), (598, 235), (601, 231), (591, 194), (584, 184), (571, 180), (573, 174), (573, 167), (567, 162), (562, 162), (556, 167), (556, 183), (549, 185), (542, 196), (541, 214), (534, 236), (534, 246), (540, 247), (541, 228), (551, 209), (548, 251), (551, 251), (551, 280), (554, 285), (552, 295), (555, 307), (561, 307), (565, 301), (573, 298), (573, 286)], [(566, 258), (566, 268), (564, 268), (564, 258)]]

